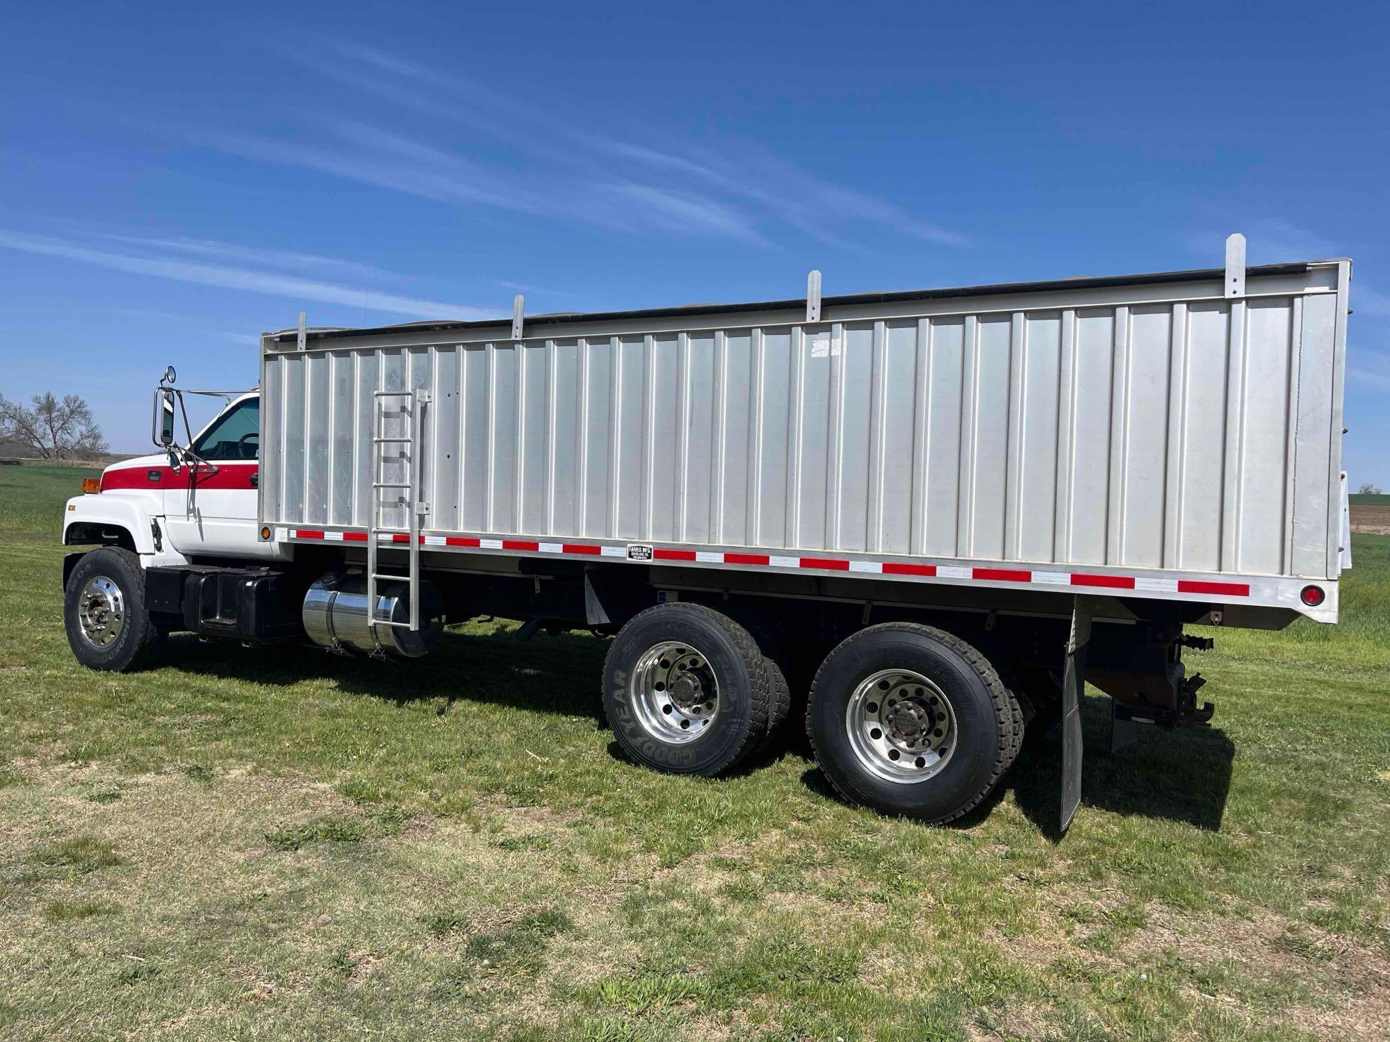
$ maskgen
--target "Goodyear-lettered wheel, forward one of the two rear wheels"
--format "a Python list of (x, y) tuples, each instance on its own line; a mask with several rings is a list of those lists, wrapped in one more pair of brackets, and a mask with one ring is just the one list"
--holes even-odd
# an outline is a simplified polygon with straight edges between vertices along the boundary
[(769, 681), (748, 631), (703, 604), (634, 615), (603, 661), (603, 711), (634, 761), (706, 778), (758, 747)]

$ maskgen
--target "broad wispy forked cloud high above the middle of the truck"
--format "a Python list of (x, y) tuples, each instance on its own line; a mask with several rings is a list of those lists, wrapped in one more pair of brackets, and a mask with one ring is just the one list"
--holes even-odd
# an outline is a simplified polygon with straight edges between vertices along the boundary
[(549, 107), (360, 43), (329, 42), (321, 54), (296, 54), (295, 60), (348, 89), (427, 115), (436, 126), (482, 133), (520, 161), (484, 164), (438, 142), (427, 144), (396, 131), (322, 117), (304, 119), (293, 140), (206, 132), (195, 138), (250, 158), (302, 165), (443, 203), (578, 220), (632, 233), (766, 245), (781, 224), (821, 242), (845, 243), (877, 226), (938, 245), (966, 243), (965, 236), (923, 215), (817, 178), (760, 146), (705, 140), (655, 147), (626, 140), (594, 121), (562, 118)]

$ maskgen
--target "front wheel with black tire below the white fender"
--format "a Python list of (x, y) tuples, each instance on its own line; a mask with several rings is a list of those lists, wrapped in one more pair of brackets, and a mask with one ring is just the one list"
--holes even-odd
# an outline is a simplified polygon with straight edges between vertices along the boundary
[(92, 670), (128, 672), (150, 661), (164, 628), (145, 610), (140, 559), (117, 546), (86, 553), (63, 590), (68, 646)]

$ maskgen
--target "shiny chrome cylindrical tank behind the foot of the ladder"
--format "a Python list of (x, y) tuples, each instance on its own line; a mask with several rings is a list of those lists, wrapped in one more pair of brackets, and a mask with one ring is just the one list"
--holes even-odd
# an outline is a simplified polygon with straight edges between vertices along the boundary
[[(411, 631), (410, 584), (382, 582), (377, 596), (377, 625), (370, 625), (367, 577), (360, 572), (328, 572), (304, 595), (304, 629), (324, 647), (346, 654), (393, 654), (418, 659), (443, 629), (443, 597), (432, 582), (420, 584), (420, 629)], [(375, 629), (375, 635), (373, 635)]]

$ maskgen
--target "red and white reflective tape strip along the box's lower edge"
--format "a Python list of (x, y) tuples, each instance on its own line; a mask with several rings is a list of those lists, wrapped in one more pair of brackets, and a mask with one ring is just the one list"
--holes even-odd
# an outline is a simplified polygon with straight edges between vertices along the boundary
[[(322, 542), (367, 542), (361, 531), (334, 532), (322, 528), (281, 528), (281, 539)], [(503, 539), (466, 535), (421, 535), (423, 546), (512, 553), (545, 553), (566, 557), (617, 557), (634, 563), (688, 561), (692, 564), (735, 564), (741, 567), (796, 568), (802, 571), (842, 571), (858, 575), (902, 575), (967, 582), (1006, 582), (1011, 585), (1065, 586), (1088, 590), (1134, 590), (1137, 593), (1191, 593), (1215, 597), (1248, 597), (1248, 582), (1213, 579), (1166, 579), (1145, 575), (1111, 575), (1083, 571), (1037, 571), (1033, 568), (977, 567), (956, 564), (916, 564), (912, 561), (873, 561), (851, 557), (801, 557), (746, 550), (687, 550), (651, 546), (649, 543), (566, 543), (539, 539)], [(384, 543), (409, 543), (406, 532), (382, 532)]]

